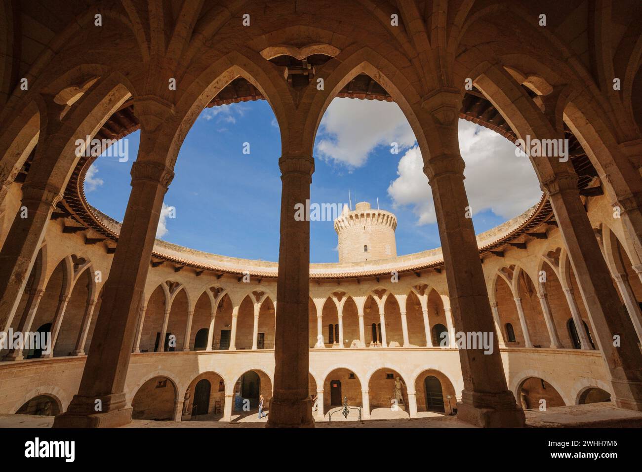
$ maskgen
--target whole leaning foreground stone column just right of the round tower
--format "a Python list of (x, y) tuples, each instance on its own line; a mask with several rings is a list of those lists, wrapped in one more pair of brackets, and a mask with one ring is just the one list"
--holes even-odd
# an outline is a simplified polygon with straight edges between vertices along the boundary
[[(435, 202), (455, 325), (464, 333), (489, 333), (494, 324), (459, 150), (460, 93), (438, 89), (426, 96), (422, 109), (429, 113), (424, 127), (429, 149), (424, 153), (424, 172)], [(484, 354), (483, 348), (459, 349), (464, 390), (458, 418), (477, 426), (521, 427), (525, 415), (508, 390), (498, 346), (494, 342), (490, 354)]]

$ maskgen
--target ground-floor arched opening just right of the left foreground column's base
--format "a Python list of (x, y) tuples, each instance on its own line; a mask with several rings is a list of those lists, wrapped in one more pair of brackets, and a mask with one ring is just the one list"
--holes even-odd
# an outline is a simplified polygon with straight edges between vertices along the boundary
[(141, 386), (132, 400), (132, 419), (171, 420), (176, 387), (167, 377), (154, 377)]

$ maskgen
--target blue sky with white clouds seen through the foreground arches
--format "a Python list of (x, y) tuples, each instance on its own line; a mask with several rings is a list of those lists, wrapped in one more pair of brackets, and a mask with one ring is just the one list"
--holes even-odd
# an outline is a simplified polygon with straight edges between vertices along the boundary
[[(90, 204), (122, 221), (139, 132), (129, 135), (127, 162), (99, 157), (85, 180)], [(397, 143), (399, 153), (392, 154)], [(250, 154), (243, 153), (250, 144)], [(465, 185), (476, 232), (517, 216), (541, 197), (527, 158), (498, 134), (460, 123)], [(277, 261), (281, 139), (267, 101), (205, 109), (178, 155), (157, 235), (197, 250)], [(367, 201), (397, 216), (397, 254), (440, 246), (428, 179), (408, 122), (395, 103), (336, 98), (315, 141), (311, 202)], [(311, 262), (336, 262), (333, 222), (311, 222)]]

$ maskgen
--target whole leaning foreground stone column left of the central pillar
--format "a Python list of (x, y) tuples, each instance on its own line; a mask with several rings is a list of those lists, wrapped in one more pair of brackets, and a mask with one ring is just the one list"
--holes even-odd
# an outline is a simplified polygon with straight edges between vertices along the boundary
[[(148, 112), (150, 106), (152, 112)], [(109, 277), (103, 288), (100, 313), (89, 347), (78, 394), (67, 411), (56, 416), (54, 427), (116, 427), (132, 421), (132, 408), (126, 404), (125, 380), (129, 367), (139, 305), (150, 267), (153, 243), (164, 195), (173, 171), (164, 163), (166, 153), (158, 150), (169, 112), (160, 101), (137, 102), (141, 119), (141, 144), (132, 165), (132, 192), (118, 237)], [(94, 405), (100, 399), (103, 410)]]

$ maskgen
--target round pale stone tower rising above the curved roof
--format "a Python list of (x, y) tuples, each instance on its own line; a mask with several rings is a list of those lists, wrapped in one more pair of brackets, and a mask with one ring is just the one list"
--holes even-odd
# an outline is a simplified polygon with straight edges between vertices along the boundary
[(395, 242), (397, 217), (385, 210), (370, 208), (367, 202), (355, 205), (354, 211), (343, 206), (334, 220), (339, 236), (339, 262), (375, 261), (397, 256)]

